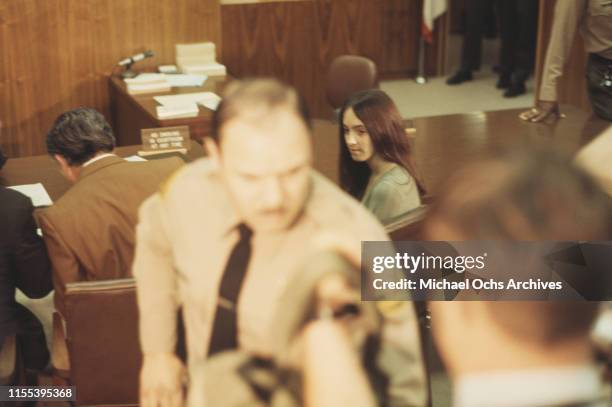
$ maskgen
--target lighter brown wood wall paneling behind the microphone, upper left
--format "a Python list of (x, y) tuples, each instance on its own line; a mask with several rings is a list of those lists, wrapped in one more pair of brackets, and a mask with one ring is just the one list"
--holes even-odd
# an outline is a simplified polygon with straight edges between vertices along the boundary
[(45, 152), (61, 112), (91, 106), (110, 119), (108, 75), (174, 62), (174, 45), (211, 40), (222, 52), (218, 0), (19, 0), (0, 2), (0, 145), (11, 156)]

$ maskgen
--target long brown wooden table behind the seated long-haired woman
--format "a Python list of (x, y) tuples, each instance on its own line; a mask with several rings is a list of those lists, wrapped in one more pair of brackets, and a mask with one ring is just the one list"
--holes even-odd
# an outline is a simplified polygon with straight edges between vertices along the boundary
[[(428, 194), (435, 196), (449, 175), (488, 151), (548, 146), (574, 154), (610, 125), (572, 106), (563, 106), (567, 117), (553, 125), (525, 123), (518, 118), (523, 110), (413, 119), (414, 158)], [(338, 182), (338, 125), (315, 120), (314, 129), (315, 168)]]

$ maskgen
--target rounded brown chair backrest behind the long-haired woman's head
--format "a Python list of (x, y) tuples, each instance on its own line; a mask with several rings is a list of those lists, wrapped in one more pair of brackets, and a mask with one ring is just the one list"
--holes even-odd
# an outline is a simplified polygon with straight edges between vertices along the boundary
[(342, 107), (354, 93), (378, 86), (376, 64), (357, 55), (341, 55), (327, 72), (327, 101), (334, 109)]

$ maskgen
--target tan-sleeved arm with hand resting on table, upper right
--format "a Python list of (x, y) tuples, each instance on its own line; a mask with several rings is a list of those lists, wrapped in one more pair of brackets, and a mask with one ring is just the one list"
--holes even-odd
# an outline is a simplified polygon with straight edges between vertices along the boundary
[(555, 6), (550, 42), (542, 71), (537, 106), (520, 114), (530, 122), (541, 122), (551, 115), (559, 116), (557, 82), (574, 43), (578, 26), (586, 15), (588, 0), (558, 0)]

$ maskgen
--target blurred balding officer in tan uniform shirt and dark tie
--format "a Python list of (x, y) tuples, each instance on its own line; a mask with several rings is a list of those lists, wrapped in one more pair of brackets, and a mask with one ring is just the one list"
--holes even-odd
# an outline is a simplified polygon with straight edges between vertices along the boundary
[[(388, 239), (365, 208), (312, 170), (310, 123), (293, 89), (273, 80), (230, 85), (206, 146), (209, 158), (178, 172), (140, 209), (134, 275), (145, 407), (182, 402), (179, 306), (190, 367), (236, 350), (269, 358), (274, 315), (292, 306), (281, 299), (315, 238), (346, 232), (355, 257), (359, 242)], [(416, 337), (410, 311), (386, 322)], [(389, 392), (423, 400), (420, 349), (391, 343), (410, 380), (391, 377)]]

